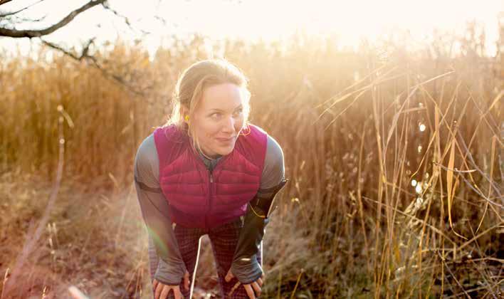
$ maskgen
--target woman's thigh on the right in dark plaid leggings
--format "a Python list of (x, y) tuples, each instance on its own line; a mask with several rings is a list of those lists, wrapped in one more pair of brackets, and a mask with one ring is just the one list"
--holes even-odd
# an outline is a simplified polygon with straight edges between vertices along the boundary
[[(217, 266), (217, 274), (219, 276), (219, 285), (221, 286), (221, 292), (224, 294), (224, 298), (248, 298), (243, 285), (239, 285), (238, 288), (233, 290), (231, 295), (228, 295), (238, 280), (233, 278), (229, 283), (226, 283), (226, 280), (224, 279), (229, 271), (229, 268), (231, 268), (231, 262), (233, 261), (233, 255), (236, 249), (236, 244), (238, 243), (241, 226), (241, 220), (238, 218), (235, 221), (231, 221), (215, 229), (211, 229), (209, 232), (211, 247), (214, 252), (214, 258)], [(260, 253), (257, 258), (259, 263), (261, 263)]]

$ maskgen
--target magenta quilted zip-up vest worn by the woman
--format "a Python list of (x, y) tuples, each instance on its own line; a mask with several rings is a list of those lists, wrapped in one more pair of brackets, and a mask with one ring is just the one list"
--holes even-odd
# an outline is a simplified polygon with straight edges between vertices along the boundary
[(256, 195), (266, 157), (267, 134), (248, 125), (231, 153), (212, 172), (191, 147), (187, 133), (174, 125), (154, 130), (159, 157), (159, 185), (169, 203), (172, 221), (191, 228), (211, 229), (246, 213)]

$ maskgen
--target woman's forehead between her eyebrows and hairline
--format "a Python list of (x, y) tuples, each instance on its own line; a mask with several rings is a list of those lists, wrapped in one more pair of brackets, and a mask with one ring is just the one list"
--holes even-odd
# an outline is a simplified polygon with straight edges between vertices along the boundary
[(201, 98), (203, 110), (234, 110), (243, 105), (243, 89), (233, 83), (223, 83), (205, 88)]

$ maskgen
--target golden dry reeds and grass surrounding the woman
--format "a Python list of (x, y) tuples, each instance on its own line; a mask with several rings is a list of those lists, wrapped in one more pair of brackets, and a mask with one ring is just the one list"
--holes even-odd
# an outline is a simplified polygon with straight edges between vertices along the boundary
[[(504, 58), (470, 35), (451, 53), (444, 38), (415, 51), (306, 36), (214, 45), (248, 74), (252, 122), (282, 145), (291, 179), (266, 234), (265, 298), (502, 298)], [(48, 62), (48, 49), (0, 58), (4, 298), (65, 298), (70, 285), (149, 298), (132, 159), (204, 43), (152, 61), (120, 42), (100, 53), (144, 95), (85, 62)], [(205, 248), (196, 285), (212, 289)]]

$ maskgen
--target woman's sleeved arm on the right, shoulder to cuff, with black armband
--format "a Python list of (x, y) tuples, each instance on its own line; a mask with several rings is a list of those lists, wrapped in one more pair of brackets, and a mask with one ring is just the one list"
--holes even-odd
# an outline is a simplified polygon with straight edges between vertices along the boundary
[(273, 199), (285, 183), (283, 152), (272, 137), (268, 135), (266, 159), (261, 177), (261, 187), (247, 206), (238, 244), (231, 263), (231, 273), (243, 284), (258, 280), (263, 274), (257, 261), (259, 244), (263, 240), (268, 216), (274, 209)]

